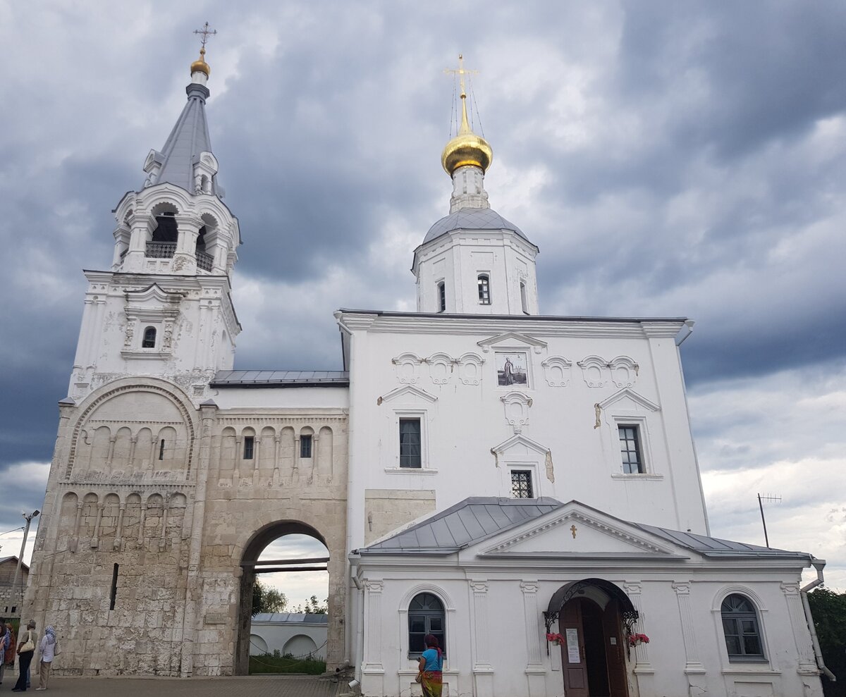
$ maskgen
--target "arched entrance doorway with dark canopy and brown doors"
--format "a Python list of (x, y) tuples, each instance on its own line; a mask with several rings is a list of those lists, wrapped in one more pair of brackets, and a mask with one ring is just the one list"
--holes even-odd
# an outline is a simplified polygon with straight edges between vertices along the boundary
[(629, 596), (604, 579), (563, 585), (544, 612), (558, 620), (564, 693), (568, 697), (629, 697), (627, 627), (637, 618)]

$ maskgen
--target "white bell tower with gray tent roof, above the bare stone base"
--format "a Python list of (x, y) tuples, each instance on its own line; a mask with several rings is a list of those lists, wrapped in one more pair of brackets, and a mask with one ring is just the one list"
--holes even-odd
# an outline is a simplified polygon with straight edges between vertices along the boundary
[(240, 325), (230, 283), (241, 239), (206, 122), (212, 32), (200, 33), (182, 113), (162, 150), (146, 156), (143, 184), (114, 210), (112, 266), (85, 271), (74, 401), (123, 376), (165, 378), (201, 401), (214, 373), (233, 366)]

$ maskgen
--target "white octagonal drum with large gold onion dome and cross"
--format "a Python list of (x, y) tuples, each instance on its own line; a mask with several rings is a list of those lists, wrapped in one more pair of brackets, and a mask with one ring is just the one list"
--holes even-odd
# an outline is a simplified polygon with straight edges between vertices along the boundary
[(443, 149), (441, 163), (453, 180), (449, 215), (431, 226), (415, 250), (419, 312), (474, 315), (537, 315), (537, 247), (511, 222), (493, 211), (485, 173), (493, 161), (487, 141), (473, 132), (467, 116), (464, 75), (459, 77), (461, 125)]

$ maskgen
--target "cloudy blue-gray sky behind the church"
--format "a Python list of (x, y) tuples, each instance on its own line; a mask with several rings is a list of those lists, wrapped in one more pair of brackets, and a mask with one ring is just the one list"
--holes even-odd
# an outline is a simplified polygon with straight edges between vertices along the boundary
[[(492, 206), (541, 248), (541, 311), (694, 319), (712, 533), (762, 544), (755, 493), (780, 495), (772, 545), (846, 590), (839, 0), (0, 0), (0, 533), (41, 507), (80, 269), (108, 267), (110, 211), (179, 114), (206, 20), (244, 239), (236, 367), (338, 368), (332, 310), (413, 309), (411, 252), (448, 212), (442, 70), (464, 52)], [(17, 554), (19, 533), (0, 544)]]

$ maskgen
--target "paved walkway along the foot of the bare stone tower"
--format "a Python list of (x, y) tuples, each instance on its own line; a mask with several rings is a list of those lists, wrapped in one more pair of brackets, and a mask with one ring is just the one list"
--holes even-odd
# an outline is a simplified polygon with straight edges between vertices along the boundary
[[(8, 672), (4, 678), (8, 677)], [(37, 681), (38, 678), (36, 678)], [(351, 679), (351, 678), (350, 678)], [(37, 684), (26, 694), (35, 697)], [(9, 685), (11, 688), (11, 683)], [(3, 692), (6, 680), (3, 680)], [(255, 675), (236, 678), (50, 678), (55, 697), (338, 697), (346, 683), (320, 680), (310, 675)], [(11, 694), (11, 693), (9, 693)], [(41, 694), (41, 693), (38, 693)]]

